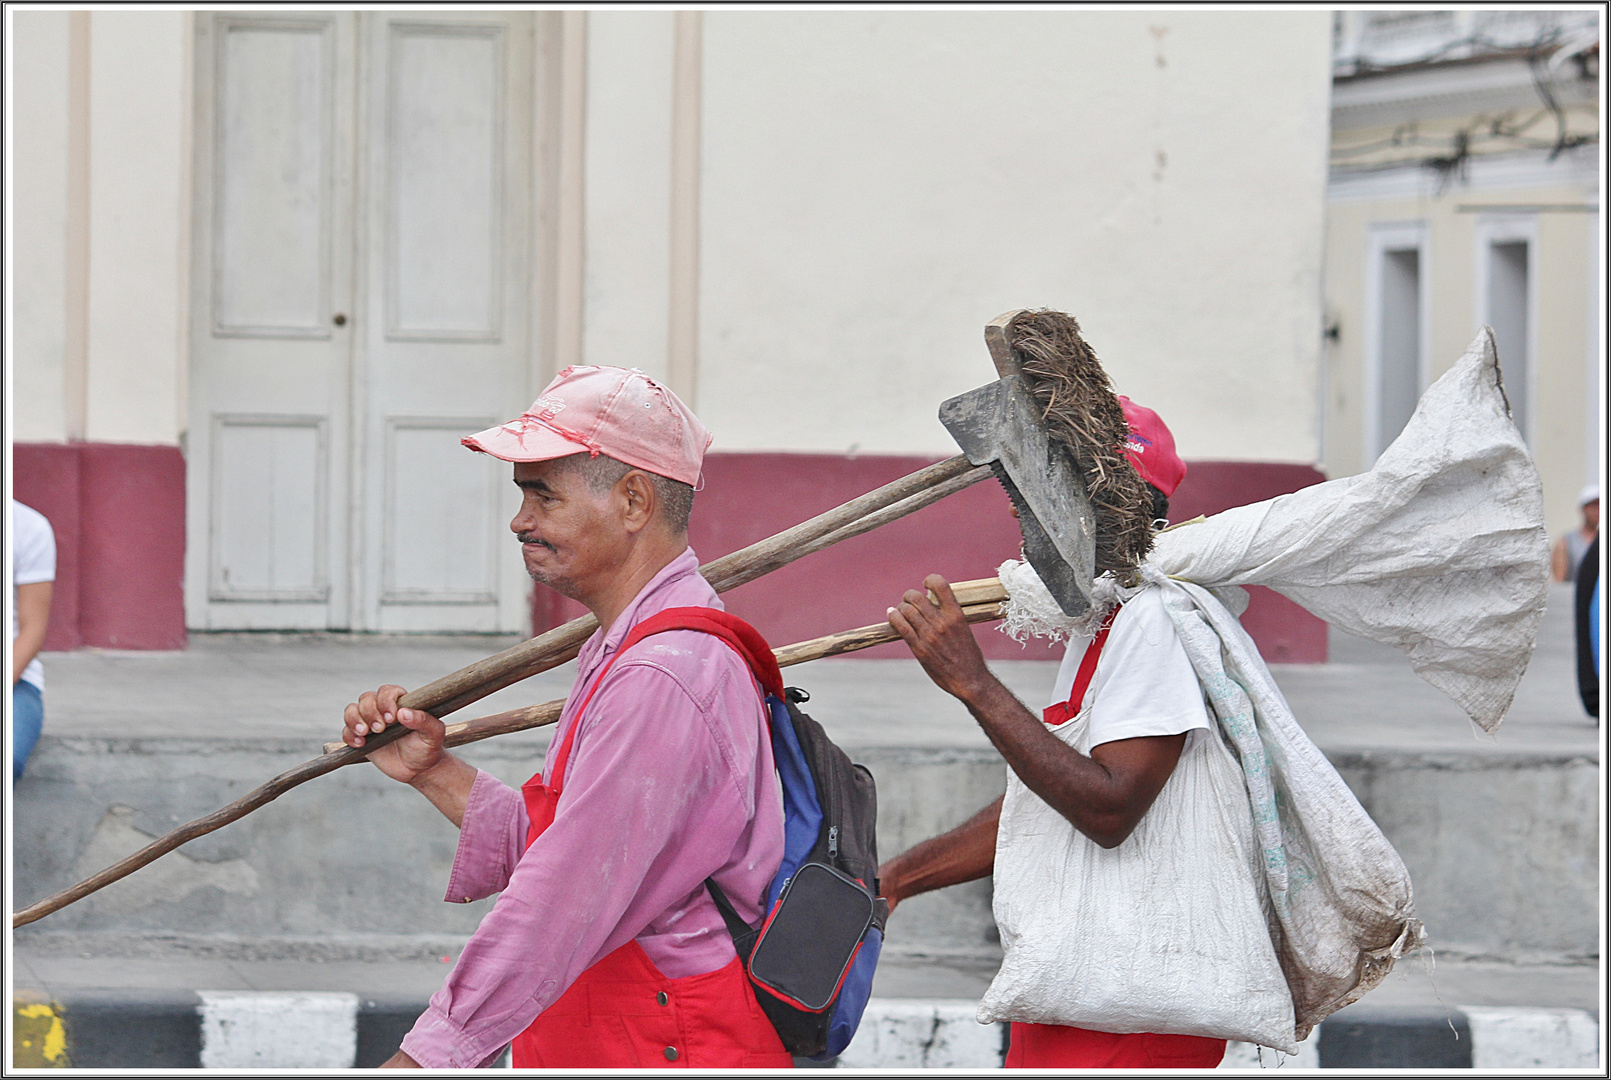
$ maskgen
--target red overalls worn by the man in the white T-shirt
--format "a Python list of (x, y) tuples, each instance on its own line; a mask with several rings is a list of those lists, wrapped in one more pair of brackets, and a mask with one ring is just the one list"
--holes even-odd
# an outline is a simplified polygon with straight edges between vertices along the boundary
[[(1047, 706), (1041, 714), (1049, 727), (1079, 716), (1116, 614), (1118, 608), (1108, 613), (1086, 648), (1068, 701)], [(1015, 1022), (1010, 1040), (1007, 1069), (1213, 1069), (1224, 1057), (1223, 1038), (1200, 1035), (1115, 1035), (1060, 1024)]]

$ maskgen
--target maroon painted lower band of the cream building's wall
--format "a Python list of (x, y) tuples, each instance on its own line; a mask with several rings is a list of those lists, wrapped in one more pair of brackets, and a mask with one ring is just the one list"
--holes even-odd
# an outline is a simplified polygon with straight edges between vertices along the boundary
[[(704, 561), (736, 551), (933, 461), (912, 456), (715, 453), (694, 503), (690, 542)], [(56, 588), (47, 650), (184, 648), (185, 461), (176, 447), (18, 443), (16, 498), (56, 532)], [(1310, 466), (1199, 461), (1170, 508), (1173, 521), (1215, 514), (1324, 480)], [(976, 484), (854, 540), (807, 556), (727, 595), (728, 608), (775, 645), (883, 622), (884, 609), (926, 574), (992, 577), (1017, 558), (1018, 525), (992, 482)], [(538, 585), (538, 630), (582, 608)], [(1265, 659), (1326, 659), (1326, 624), (1295, 603), (1253, 588), (1242, 616)], [(994, 625), (975, 629), (992, 659), (1055, 659), (1062, 646), (1018, 645)], [(905, 656), (881, 645), (862, 656)]]

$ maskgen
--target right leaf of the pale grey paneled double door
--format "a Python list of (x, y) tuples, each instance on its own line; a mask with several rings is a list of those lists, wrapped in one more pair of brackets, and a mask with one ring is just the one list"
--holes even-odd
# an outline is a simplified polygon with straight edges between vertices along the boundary
[(459, 438), (520, 413), (530, 327), (532, 37), (525, 11), (372, 13), (364, 163), (366, 455), (356, 527), (377, 630), (524, 630), (509, 466)]

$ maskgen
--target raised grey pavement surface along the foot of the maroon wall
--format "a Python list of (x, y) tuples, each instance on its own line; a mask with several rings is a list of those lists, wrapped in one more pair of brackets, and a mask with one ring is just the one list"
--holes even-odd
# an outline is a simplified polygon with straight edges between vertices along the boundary
[[(56, 737), (304, 737), (311, 753), (340, 735), (342, 708), (362, 690), (414, 688), (496, 653), (491, 635), (193, 633), (180, 653), (82, 650), (45, 656), (45, 733)], [(1057, 666), (997, 661), (1002, 680), (1039, 708)], [(1600, 729), (1577, 700), (1571, 592), (1555, 587), (1539, 648), (1500, 732), (1484, 735), (1424, 683), (1398, 651), (1332, 632), (1331, 663), (1271, 669), (1298, 722), (1323, 750), (1585, 753)], [(469, 706), (482, 716), (565, 696), (575, 664)], [(834, 658), (791, 667), (810, 711), (846, 746), (988, 746), (955, 700), (915, 661)]]

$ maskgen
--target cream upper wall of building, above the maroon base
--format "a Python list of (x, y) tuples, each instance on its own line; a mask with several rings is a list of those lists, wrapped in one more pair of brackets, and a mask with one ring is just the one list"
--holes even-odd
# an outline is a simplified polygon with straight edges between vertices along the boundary
[[(39, 68), (14, 129), (16, 435), (174, 443), (192, 16), (81, 16), (82, 432), (61, 392), (72, 16), (13, 18), (18, 74)], [(673, 18), (588, 15), (582, 355), (651, 374)], [(1319, 11), (704, 13), (696, 406), (719, 447), (949, 453), (936, 406), (989, 377), (983, 324), (1054, 306), (1187, 456), (1316, 461), (1327, 45)]]

